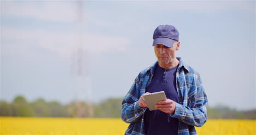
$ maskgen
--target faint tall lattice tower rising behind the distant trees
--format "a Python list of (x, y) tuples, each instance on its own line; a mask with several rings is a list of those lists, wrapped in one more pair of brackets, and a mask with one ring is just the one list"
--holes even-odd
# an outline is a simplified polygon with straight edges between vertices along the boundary
[[(71, 56), (71, 75), (74, 81), (72, 89), (75, 95), (75, 109), (77, 117), (92, 117), (93, 107), (92, 107), (92, 81), (90, 76), (90, 62), (89, 53), (86, 50), (84, 44), (84, 6), (83, 1), (77, 1), (78, 10), (78, 20), (76, 32), (76, 42), (74, 45), (75, 51), (72, 52)], [(87, 107), (82, 104), (82, 101), (86, 102)], [(73, 111), (72, 109), (69, 109)]]

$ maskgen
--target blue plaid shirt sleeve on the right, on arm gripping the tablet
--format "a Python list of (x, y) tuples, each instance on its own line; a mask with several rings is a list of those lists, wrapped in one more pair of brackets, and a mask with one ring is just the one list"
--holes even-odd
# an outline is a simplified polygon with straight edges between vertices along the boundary
[(202, 86), (202, 81), (200, 75), (194, 86), (194, 95), (195, 98), (188, 98), (190, 107), (176, 103), (176, 109), (173, 114), (170, 114), (173, 118), (178, 118), (183, 121), (185, 124), (192, 126), (201, 127), (207, 121), (207, 96), (205, 90)]

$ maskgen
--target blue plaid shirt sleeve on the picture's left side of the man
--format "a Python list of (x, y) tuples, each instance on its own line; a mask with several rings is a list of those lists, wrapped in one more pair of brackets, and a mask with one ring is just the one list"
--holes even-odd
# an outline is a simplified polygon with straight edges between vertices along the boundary
[(138, 121), (139, 119), (141, 119), (144, 111), (147, 109), (139, 107), (138, 99), (141, 96), (140, 90), (141, 88), (139, 87), (138, 76), (122, 102), (123, 110), (121, 118), (126, 123)]

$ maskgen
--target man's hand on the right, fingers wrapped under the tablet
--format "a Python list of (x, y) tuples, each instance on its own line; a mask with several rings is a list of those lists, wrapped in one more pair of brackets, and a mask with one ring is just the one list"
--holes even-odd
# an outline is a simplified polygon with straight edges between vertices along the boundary
[(164, 101), (159, 101), (158, 104), (155, 105), (155, 108), (167, 114), (171, 114), (175, 111), (176, 103), (171, 99), (166, 99)]

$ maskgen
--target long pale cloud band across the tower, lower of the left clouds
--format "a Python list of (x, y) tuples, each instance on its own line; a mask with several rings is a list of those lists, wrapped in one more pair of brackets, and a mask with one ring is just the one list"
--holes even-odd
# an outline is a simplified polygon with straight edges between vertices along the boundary
[[(53, 51), (63, 57), (69, 57), (71, 53), (79, 48), (91, 55), (101, 55), (109, 52), (124, 52), (127, 44), (130, 43), (127, 38), (103, 34), (78, 34), (45, 30), (28, 31), (16, 28), (2, 28), (1, 33), (2, 45), (15, 44), (17, 48), (20, 48), (16, 51), (24, 55), (26, 55), (26, 50), (30, 48), (29, 46)], [(12, 42), (8, 43), (6, 41)]]

